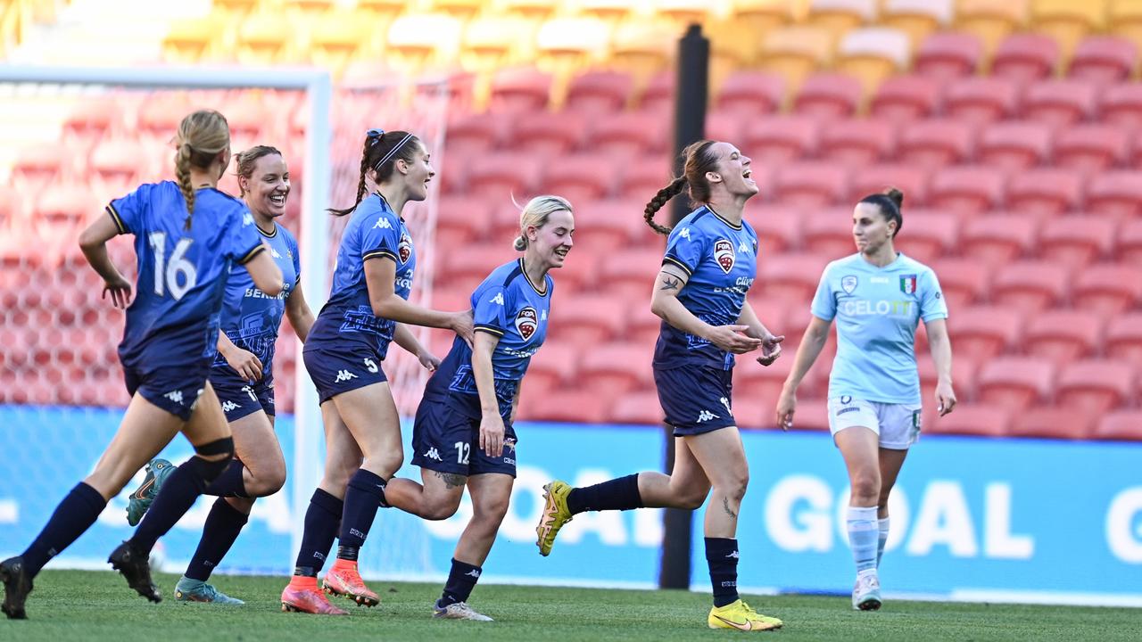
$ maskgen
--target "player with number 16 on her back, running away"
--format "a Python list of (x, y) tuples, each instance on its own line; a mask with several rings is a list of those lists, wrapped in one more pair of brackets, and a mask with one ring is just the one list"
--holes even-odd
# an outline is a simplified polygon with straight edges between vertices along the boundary
[[(233, 264), (249, 271), (270, 296), (282, 274), (264, 250), (246, 206), (215, 186), (230, 163), (230, 128), (214, 111), (184, 118), (176, 137), (177, 182), (146, 184), (111, 201), (107, 215), (80, 235), (80, 248), (103, 276), (104, 295), (127, 307), (119, 344), (130, 406), (95, 471), (59, 503), (32, 545), (0, 563), (3, 611), (24, 618), (32, 579), (49, 559), (82, 535), (107, 500), (179, 432), (195, 455), (166, 480), (151, 507), (154, 520), (112, 552), (110, 562), (140, 595), (158, 602), (147, 557), (154, 543), (226, 470), (234, 454), (230, 427), (207, 380), (218, 337), (218, 316)], [(134, 234), (138, 289), (107, 255), (106, 242)]]

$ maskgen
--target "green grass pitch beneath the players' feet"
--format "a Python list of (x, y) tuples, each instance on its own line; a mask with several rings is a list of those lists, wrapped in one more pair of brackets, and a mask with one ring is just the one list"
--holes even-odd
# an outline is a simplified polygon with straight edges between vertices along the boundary
[(372, 581), (381, 604), (365, 609), (335, 603), (349, 617), (281, 612), (286, 578), (215, 578), (244, 607), (180, 604), (176, 576), (161, 575), (166, 600), (151, 604), (112, 572), (45, 571), (27, 603), (29, 620), (0, 620), (0, 640), (129, 642), (176, 641), (691, 641), (740, 636), (783, 641), (876, 642), (1142, 639), (1142, 610), (1014, 604), (887, 601), (879, 612), (854, 612), (847, 597), (781, 595), (750, 597), (759, 611), (780, 617), (777, 632), (741, 633), (706, 627), (709, 597), (677, 591), (603, 591), (534, 586), (477, 586), (471, 603), (494, 623), (431, 617), (440, 586)]

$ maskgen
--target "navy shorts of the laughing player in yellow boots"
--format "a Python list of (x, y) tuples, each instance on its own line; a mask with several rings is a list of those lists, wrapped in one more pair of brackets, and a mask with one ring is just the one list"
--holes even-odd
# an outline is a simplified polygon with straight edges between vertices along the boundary
[(674, 436), (700, 435), (737, 426), (733, 418), (733, 370), (683, 367), (654, 368), (658, 402), (666, 423), (674, 426)]

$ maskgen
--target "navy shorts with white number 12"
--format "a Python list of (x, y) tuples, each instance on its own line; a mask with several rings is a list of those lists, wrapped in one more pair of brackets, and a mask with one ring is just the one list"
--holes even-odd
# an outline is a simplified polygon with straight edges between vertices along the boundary
[(437, 473), (515, 476), (515, 430), (504, 420), (504, 455), (480, 448), (480, 398), (467, 394), (425, 396), (412, 424), (412, 465)]

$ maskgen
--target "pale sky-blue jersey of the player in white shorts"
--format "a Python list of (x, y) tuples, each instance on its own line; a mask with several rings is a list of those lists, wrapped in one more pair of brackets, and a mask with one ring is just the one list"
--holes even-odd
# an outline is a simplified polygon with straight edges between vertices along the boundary
[(898, 255), (884, 267), (860, 254), (825, 268), (811, 308), (837, 320), (837, 356), (829, 396), (851, 395), (880, 403), (919, 403), (916, 326), (948, 318), (932, 268)]

